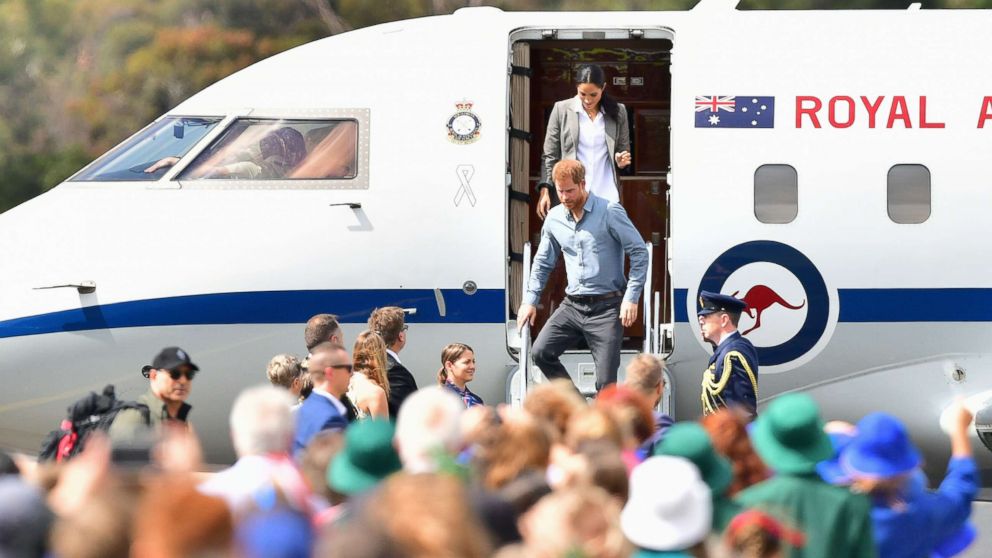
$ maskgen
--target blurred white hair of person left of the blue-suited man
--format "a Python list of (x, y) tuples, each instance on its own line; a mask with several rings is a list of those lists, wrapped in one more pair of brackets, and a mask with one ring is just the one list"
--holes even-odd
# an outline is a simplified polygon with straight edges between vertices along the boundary
[(295, 419), (293, 396), (275, 386), (255, 386), (238, 395), (231, 408), (231, 438), (238, 457), (290, 449)]

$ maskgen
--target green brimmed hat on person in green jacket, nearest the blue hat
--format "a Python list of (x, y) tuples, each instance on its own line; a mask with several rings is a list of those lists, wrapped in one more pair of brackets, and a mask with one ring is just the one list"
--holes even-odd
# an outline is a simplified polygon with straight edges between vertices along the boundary
[(752, 441), (758, 455), (778, 473), (813, 473), (817, 463), (833, 456), (819, 407), (801, 393), (773, 401), (755, 422)]

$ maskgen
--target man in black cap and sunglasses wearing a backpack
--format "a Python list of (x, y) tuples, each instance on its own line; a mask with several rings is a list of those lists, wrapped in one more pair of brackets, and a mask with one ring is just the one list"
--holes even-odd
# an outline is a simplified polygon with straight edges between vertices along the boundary
[[(148, 426), (157, 429), (163, 423), (185, 423), (193, 408), (186, 399), (193, 388), (193, 377), (200, 368), (193, 364), (189, 354), (179, 347), (162, 349), (151, 365), (141, 369), (141, 375), (148, 378), (148, 391), (137, 399), (138, 403), (148, 406)], [(117, 414), (110, 427), (112, 439), (133, 437), (135, 432), (144, 428), (145, 421), (141, 412), (136, 409), (125, 409)]]

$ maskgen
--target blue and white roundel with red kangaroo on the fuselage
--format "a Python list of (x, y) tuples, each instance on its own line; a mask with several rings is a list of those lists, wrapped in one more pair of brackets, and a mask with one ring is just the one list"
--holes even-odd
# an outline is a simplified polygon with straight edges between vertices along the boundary
[[(837, 321), (836, 296), (813, 262), (770, 240), (738, 244), (712, 263), (698, 291), (747, 303), (739, 331), (754, 344), (762, 372), (782, 372), (808, 361), (826, 344)], [(687, 300), (696, 315), (696, 296)]]

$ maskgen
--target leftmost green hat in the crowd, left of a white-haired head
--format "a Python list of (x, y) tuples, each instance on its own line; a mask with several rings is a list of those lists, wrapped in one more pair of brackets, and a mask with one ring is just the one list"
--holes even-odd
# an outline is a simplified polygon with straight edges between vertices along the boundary
[(345, 431), (344, 448), (327, 468), (327, 484), (342, 494), (364, 492), (401, 470), (400, 456), (393, 448), (393, 424), (385, 420), (363, 420)]

